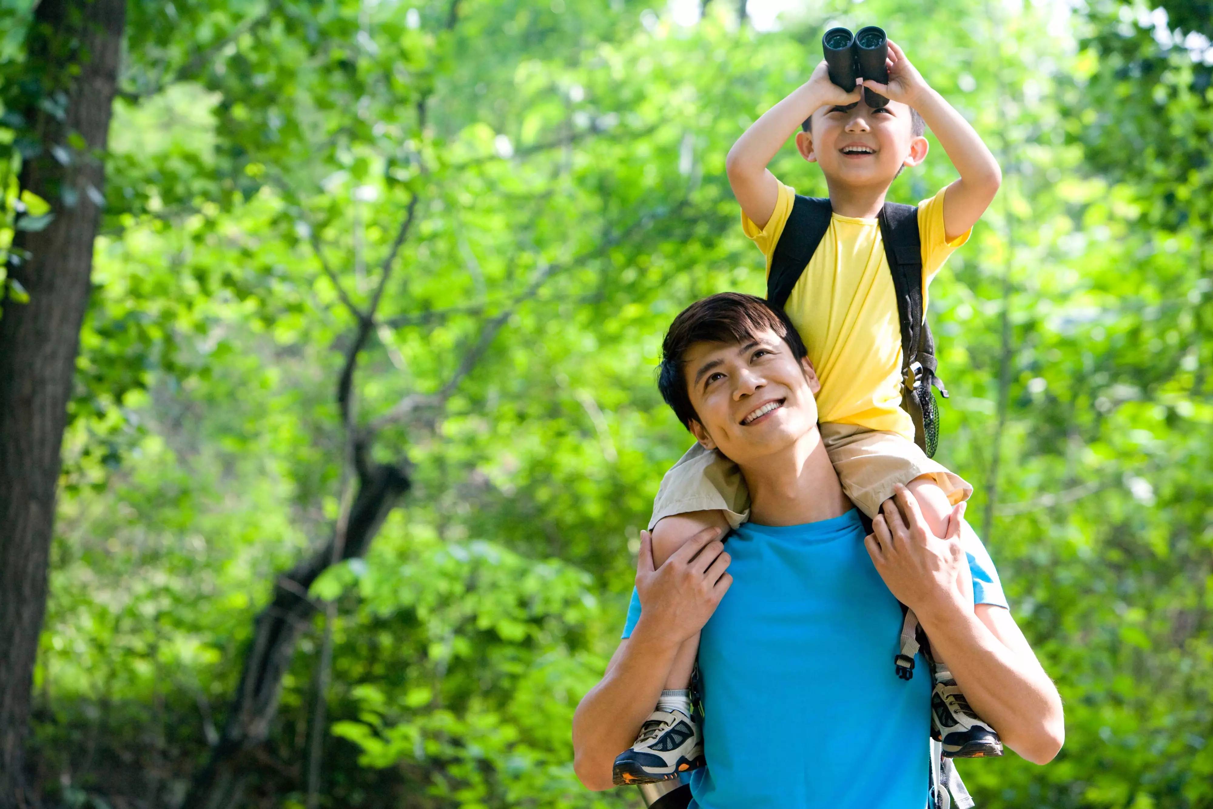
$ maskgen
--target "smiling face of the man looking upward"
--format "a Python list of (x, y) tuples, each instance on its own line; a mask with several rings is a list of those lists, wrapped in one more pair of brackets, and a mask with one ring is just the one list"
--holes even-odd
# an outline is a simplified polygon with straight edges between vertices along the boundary
[(742, 343), (696, 343), (683, 373), (697, 422), (691, 432), (745, 466), (787, 448), (818, 423), (813, 364), (770, 329)]

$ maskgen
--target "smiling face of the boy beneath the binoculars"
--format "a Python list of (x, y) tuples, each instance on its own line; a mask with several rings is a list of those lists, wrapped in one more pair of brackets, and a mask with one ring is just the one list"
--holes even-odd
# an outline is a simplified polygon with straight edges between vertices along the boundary
[(910, 107), (890, 101), (873, 109), (860, 100), (813, 113), (811, 131), (796, 136), (804, 159), (821, 165), (830, 183), (888, 187), (901, 166), (927, 157), (927, 138), (911, 131)]

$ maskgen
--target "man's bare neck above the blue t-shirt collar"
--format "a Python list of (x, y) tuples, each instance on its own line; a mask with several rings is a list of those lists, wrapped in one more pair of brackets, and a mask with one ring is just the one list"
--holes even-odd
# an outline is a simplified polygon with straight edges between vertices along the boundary
[(852, 508), (814, 428), (799, 441), (752, 465), (741, 466), (750, 488), (750, 519), (759, 525), (802, 525)]

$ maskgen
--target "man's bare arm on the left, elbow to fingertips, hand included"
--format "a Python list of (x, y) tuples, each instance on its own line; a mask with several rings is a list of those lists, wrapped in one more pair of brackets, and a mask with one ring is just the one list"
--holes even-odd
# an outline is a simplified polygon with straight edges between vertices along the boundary
[(721, 533), (700, 531), (654, 570), (653, 539), (640, 532), (640, 620), (573, 714), (573, 769), (587, 788), (613, 786), (615, 757), (631, 747), (653, 712), (678, 647), (704, 628), (733, 584)]

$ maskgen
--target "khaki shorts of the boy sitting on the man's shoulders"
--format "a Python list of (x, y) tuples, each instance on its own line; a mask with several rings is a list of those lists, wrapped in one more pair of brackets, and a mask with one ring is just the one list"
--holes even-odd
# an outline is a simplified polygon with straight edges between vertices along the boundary
[[(934, 479), (952, 505), (973, 493), (964, 479), (928, 458), (902, 435), (854, 424), (822, 423), (819, 428), (842, 491), (869, 517), (893, 497), (896, 485), (905, 486), (921, 475)], [(661, 517), (711, 509), (724, 511), (736, 528), (750, 519), (750, 492), (735, 463), (696, 443), (661, 479), (649, 531)]]

